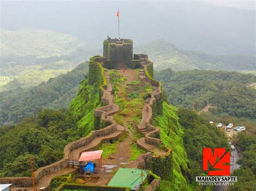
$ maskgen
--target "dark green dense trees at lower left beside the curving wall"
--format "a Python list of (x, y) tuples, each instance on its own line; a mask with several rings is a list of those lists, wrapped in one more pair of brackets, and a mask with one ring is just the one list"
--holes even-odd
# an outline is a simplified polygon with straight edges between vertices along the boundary
[(68, 111), (44, 109), (1, 128), (0, 177), (30, 176), (31, 157), (35, 168), (62, 159), (64, 146), (79, 138), (76, 121)]

